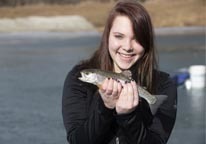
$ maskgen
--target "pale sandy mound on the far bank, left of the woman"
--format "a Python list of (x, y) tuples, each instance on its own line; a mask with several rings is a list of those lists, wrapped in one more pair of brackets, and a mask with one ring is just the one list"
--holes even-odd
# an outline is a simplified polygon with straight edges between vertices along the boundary
[(91, 31), (93, 29), (95, 29), (94, 26), (79, 15), (0, 19), (0, 32)]

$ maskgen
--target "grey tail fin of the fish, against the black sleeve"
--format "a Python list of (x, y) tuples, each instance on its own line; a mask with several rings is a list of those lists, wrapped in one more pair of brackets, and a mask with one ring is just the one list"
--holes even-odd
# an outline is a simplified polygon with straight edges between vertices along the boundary
[(153, 95), (157, 98), (157, 101), (154, 104), (149, 104), (150, 110), (153, 115), (156, 114), (158, 108), (164, 103), (164, 101), (167, 99), (167, 95)]

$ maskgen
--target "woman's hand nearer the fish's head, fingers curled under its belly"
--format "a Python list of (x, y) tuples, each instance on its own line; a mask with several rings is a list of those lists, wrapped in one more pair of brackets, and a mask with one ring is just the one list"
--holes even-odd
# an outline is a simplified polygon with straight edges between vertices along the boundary
[(99, 93), (102, 97), (104, 105), (109, 109), (114, 109), (117, 99), (122, 90), (122, 85), (117, 80), (107, 78), (104, 80)]

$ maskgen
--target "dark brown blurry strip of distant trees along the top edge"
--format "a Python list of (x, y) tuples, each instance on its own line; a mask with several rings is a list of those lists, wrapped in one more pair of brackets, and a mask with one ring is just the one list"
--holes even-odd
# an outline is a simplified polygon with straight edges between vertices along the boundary
[[(98, 2), (111, 2), (117, 0), (0, 0), (0, 7), (3, 6), (21, 6), (21, 5), (30, 5), (30, 4), (77, 4), (83, 1), (98, 1)], [(144, 2), (146, 0), (137, 0)]]

